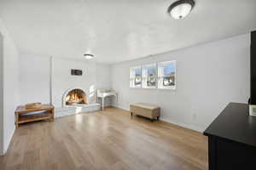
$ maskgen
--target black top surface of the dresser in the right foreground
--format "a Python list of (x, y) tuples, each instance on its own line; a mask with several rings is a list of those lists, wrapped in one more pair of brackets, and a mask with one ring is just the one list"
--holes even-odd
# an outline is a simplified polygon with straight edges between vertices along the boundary
[(256, 116), (249, 116), (249, 105), (230, 103), (204, 134), (256, 146)]

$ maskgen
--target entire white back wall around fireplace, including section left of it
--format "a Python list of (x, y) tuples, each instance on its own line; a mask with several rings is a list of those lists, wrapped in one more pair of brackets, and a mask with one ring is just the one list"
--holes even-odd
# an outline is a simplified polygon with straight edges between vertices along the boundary
[[(62, 105), (62, 96), (69, 88), (83, 88), (90, 97), (89, 102), (96, 101), (96, 88), (109, 88), (109, 65), (96, 64), (87, 60), (52, 58), (32, 54), (20, 55), (20, 103), (50, 103), (56, 108)], [(52, 68), (52, 73), (50, 71)], [(83, 76), (71, 76), (71, 69), (80, 69)], [(52, 77), (52, 82), (50, 82)], [(51, 84), (51, 85), (50, 85)], [(106, 102), (109, 105), (109, 102)]]

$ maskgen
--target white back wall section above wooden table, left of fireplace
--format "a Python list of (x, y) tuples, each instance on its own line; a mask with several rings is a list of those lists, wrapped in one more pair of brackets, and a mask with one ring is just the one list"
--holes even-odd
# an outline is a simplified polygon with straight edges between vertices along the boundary
[(49, 57), (20, 55), (20, 105), (49, 104)]

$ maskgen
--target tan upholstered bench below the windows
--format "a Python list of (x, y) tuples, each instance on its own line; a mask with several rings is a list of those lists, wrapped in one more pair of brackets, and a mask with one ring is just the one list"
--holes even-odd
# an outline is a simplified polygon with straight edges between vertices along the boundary
[(148, 117), (151, 119), (151, 122), (153, 122), (155, 118), (159, 119), (160, 117), (160, 107), (156, 105), (136, 103), (136, 104), (130, 105), (130, 111), (131, 111), (131, 116), (134, 114), (134, 115)]

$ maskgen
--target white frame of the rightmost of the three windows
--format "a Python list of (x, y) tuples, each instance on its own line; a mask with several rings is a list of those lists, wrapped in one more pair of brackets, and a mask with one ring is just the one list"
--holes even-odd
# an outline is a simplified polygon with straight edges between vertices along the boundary
[[(164, 67), (166, 65), (175, 65), (175, 74), (174, 74), (174, 86), (163, 86), (163, 79), (164, 79)], [(160, 62), (158, 63), (158, 88), (159, 89), (172, 89), (175, 90), (176, 86), (177, 86), (177, 78), (176, 78), (176, 73), (177, 73), (177, 61), (176, 60), (172, 60), (172, 61), (164, 61), (164, 62)]]

